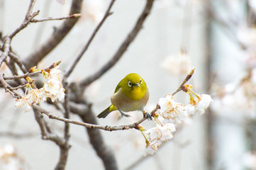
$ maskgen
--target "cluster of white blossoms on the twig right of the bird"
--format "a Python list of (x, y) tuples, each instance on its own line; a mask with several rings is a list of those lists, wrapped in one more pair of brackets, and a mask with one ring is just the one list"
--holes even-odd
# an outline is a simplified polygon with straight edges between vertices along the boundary
[[(190, 88), (191, 86), (188, 87)], [(145, 135), (143, 134), (146, 140), (145, 155), (154, 154), (157, 152), (158, 147), (162, 145), (162, 142), (171, 140), (173, 138), (172, 133), (175, 132), (175, 125), (182, 123), (183, 120), (190, 116), (204, 114), (205, 109), (213, 102), (208, 94), (198, 95), (189, 88), (186, 89), (186, 92), (190, 96), (190, 103), (186, 106), (174, 101), (170, 94), (165, 98), (160, 98), (158, 103), (160, 109), (154, 115), (157, 126), (146, 130)], [(196, 96), (196, 99), (192, 94)]]

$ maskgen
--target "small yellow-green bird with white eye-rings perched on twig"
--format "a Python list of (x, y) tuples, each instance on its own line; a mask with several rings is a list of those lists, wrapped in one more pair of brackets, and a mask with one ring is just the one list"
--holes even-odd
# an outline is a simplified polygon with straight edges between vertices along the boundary
[(148, 103), (150, 94), (148, 86), (139, 74), (130, 73), (126, 75), (116, 86), (114, 94), (111, 95), (111, 106), (97, 115), (97, 118), (106, 118), (112, 111), (119, 111), (121, 116), (129, 117), (123, 112), (142, 111), (144, 117), (152, 120), (152, 117), (144, 109)]

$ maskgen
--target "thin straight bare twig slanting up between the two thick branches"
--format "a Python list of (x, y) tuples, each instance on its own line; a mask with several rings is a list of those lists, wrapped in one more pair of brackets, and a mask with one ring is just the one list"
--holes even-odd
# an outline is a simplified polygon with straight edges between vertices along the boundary
[(108, 9), (106, 10), (106, 13), (104, 15), (104, 17), (101, 19), (101, 22), (99, 22), (98, 26), (96, 26), (94, 32), (91, 34), (91, 37), (89, 38), (87, 44), (84, 46), (84, 48), (82, 49), (82, 51), (79, 53), (78, 57), (76, 58), (76, 60), (74, 60), (72, 66), (69, 68), (69, 70), (67, 71), (67, 73), (65, 74), (65, 78), (69, 77), (69, 75), (73, 72), (74, 70), (74, 67), (76, 67), (77, 63), (79, 62), (79, 60), (82, 58), (82, 56), (84, 55), (84, 52), (87, 51), (89, 45), (91, 45), (91, 41), (94, 39), (96, 33), (98, 32), (99, 28), (101, 28), (101, 26), (103, 25), (104, 21), (106, 21), (106, 18), (108, 16), (111, 15), (111, 8), (113, 6), (113, 3), (115, 2), (116, 0), (112, 0), (111, 3), (109, 4), (108, 6)]

